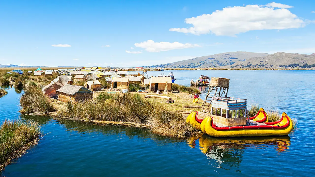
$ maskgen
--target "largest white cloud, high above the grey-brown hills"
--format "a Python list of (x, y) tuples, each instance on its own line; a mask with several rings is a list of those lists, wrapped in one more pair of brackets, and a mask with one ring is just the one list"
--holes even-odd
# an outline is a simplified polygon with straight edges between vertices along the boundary
[[(275, 7), (277, 7), (275, 9)], [(307, 20), (300, 19), (288, 9), (292, 6), (269, 3), (264, 6), (246, 5), (226, 7), (212, 14), (186, 18), (190, 28), (170, 28), (169, 31), (191, 33), (195, 35), (213, 33), (216, 36), (236, 36), (251, 30), (271, 30), (301, 28)], [(280, 9), (279, 9), (280, 8)]]

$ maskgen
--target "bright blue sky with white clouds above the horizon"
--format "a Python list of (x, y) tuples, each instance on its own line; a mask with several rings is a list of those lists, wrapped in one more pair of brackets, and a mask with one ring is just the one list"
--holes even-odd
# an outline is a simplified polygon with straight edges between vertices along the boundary
[(272, 2), (0, 1), (0, 64), (132, 67), (232, 51), (315, 53), (315, 1)]

